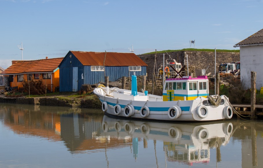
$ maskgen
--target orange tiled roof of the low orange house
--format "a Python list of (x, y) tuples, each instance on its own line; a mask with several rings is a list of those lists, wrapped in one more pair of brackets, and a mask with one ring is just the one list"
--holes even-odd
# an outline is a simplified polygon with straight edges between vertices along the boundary
[(40, 59), (32, 61), (17, 61), (1, 74), (25, 74), (37, 72), (52, 72), (63, 60), (62, 58)]

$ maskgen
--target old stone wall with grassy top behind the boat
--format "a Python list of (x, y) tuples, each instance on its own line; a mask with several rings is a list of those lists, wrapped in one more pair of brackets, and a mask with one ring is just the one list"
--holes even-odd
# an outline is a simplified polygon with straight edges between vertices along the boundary
[[(177, 51), (168, 53), (172, 59), (175, 59), (178, 63), (181, 63), (182, 66), (187, 65), (188, 55), (188, 66), (193, 66), (195, 69), (206, 69), (206, 73), (211, 72), (214, 74), (215, 67), (215, 53), (214, 52), (204, 52), (204, 51)], [(169, 59), (168, 54), (164, 54), (164, 61)], [(154, 67), (154, 57), (155, 54), (147, 55), (138, 55), (145, 63), (147, 63), (147, 79), (152, 79), (153, 67)], [(240, 53), (235, 52), (216, 52), (216, 71), (219, 69), (221, 63), (230, 63), (240, 61)], [(156, 54), (156, 65), (157, 70), (163, 65), (163, 53)], [(156, 68), (155, 68), (156, 70)]]

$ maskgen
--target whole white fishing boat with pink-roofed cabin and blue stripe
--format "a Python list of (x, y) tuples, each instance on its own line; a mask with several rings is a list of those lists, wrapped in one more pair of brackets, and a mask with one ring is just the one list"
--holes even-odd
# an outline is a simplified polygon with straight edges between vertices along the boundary
[(137, 92), (136, 75), (132, 75), (132, 90), (99, 85), (93, 92), (102, 102), (103, 112), (115, 117), (209, 121), (233, 116), (227, 96), (209, 96), (207, 76), (168, 78), (162, 96)]

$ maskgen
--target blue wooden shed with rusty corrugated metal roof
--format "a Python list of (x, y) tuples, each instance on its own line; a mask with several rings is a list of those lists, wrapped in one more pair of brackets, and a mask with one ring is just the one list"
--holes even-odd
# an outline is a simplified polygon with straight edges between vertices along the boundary
[(59, 65), (60, 92), (77, 92), (83, 84), (146, 75), (148, 65), (134, 53), (69, 51)]

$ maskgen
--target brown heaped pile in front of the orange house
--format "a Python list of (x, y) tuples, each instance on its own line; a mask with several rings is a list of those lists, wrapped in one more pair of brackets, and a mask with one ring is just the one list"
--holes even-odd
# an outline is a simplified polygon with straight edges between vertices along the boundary
[(31, 81), (24, 81), (22, 82), (25, 92), (29, 92), (30, 94), (45, 94), (45, 87), (43, 86), (43, 80), (40, 78), (39, 80), (35, 80), (34, 78)]

